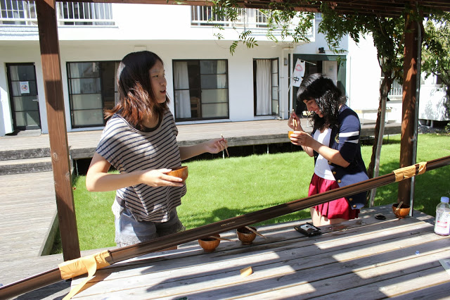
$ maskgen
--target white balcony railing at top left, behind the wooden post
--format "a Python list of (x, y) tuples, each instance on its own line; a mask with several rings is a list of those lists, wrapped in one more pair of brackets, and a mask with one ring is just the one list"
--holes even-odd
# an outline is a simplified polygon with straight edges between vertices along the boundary
[[(35, 26), (34, 1), (0, 0), (0, 25)], [(115, 25), (111, 4), (56, 2), (58, 25)]]

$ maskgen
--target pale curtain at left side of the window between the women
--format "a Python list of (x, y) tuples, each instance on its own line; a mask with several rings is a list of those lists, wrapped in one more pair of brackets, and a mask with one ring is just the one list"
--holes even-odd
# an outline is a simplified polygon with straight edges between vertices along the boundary
[[(188, 62), (174, 63), (175, 111), (177, 118), (191, 118), (191, 96), (189, 94)], [(186, 90), (180, 90), (186, 89)]]

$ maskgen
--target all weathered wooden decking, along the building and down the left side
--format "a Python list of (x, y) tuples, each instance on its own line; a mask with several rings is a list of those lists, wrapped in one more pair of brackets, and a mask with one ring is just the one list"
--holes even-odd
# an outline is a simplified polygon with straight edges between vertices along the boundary
[[(389, 125), (386, 134), (400, 132), (399, 124)], [(302, 119), (302, 126), (311, 129), (306, 119)], [(362, 133), (371, 135), (373, 126), (366, 121)], [(178, 128), (181, 145), (195, 144), (221, 134), (229, 139), (229, 146), (289, 142), (287, 120), (178, 125)], [(90, 158), (100, 136), (101, 130), (69, 132), (72, 158)], [(48, 135), (0, 137), (0, 151), (44, 148), (49, 148)], [(63, 261), (62, 255), (41, 256), (53, 243), (49, 236), (56, 230), (56, 222), (53, 173), (0, 176), (0, 284), (49, 270)], [(82, 255), (91, 252), (85, 251)], [(62, 282), (53, 289), (67, 287), (68, 284)]]

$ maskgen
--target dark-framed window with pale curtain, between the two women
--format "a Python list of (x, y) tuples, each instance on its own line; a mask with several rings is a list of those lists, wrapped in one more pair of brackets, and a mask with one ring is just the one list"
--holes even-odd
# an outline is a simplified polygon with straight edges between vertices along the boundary
[(175, 120), (229, 118), (226, 60), (173, 61)]

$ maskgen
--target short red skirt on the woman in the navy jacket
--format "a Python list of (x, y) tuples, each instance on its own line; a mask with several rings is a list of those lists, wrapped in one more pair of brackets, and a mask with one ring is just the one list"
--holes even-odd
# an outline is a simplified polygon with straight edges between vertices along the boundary
[[(321, 194), (330, 191), (331, 189), (338, 189), (338, 182), (335, 180), (327, 180), (317, 176), (315, 173), (311, 178), (309, 184), (308, 196)], [(336, 199), (324, 204), (314, 206), (316, 211), (328, 219), (345, 219), (352, 220), (358, 218), (359, 209), (352, 209), (345, 198)]]

